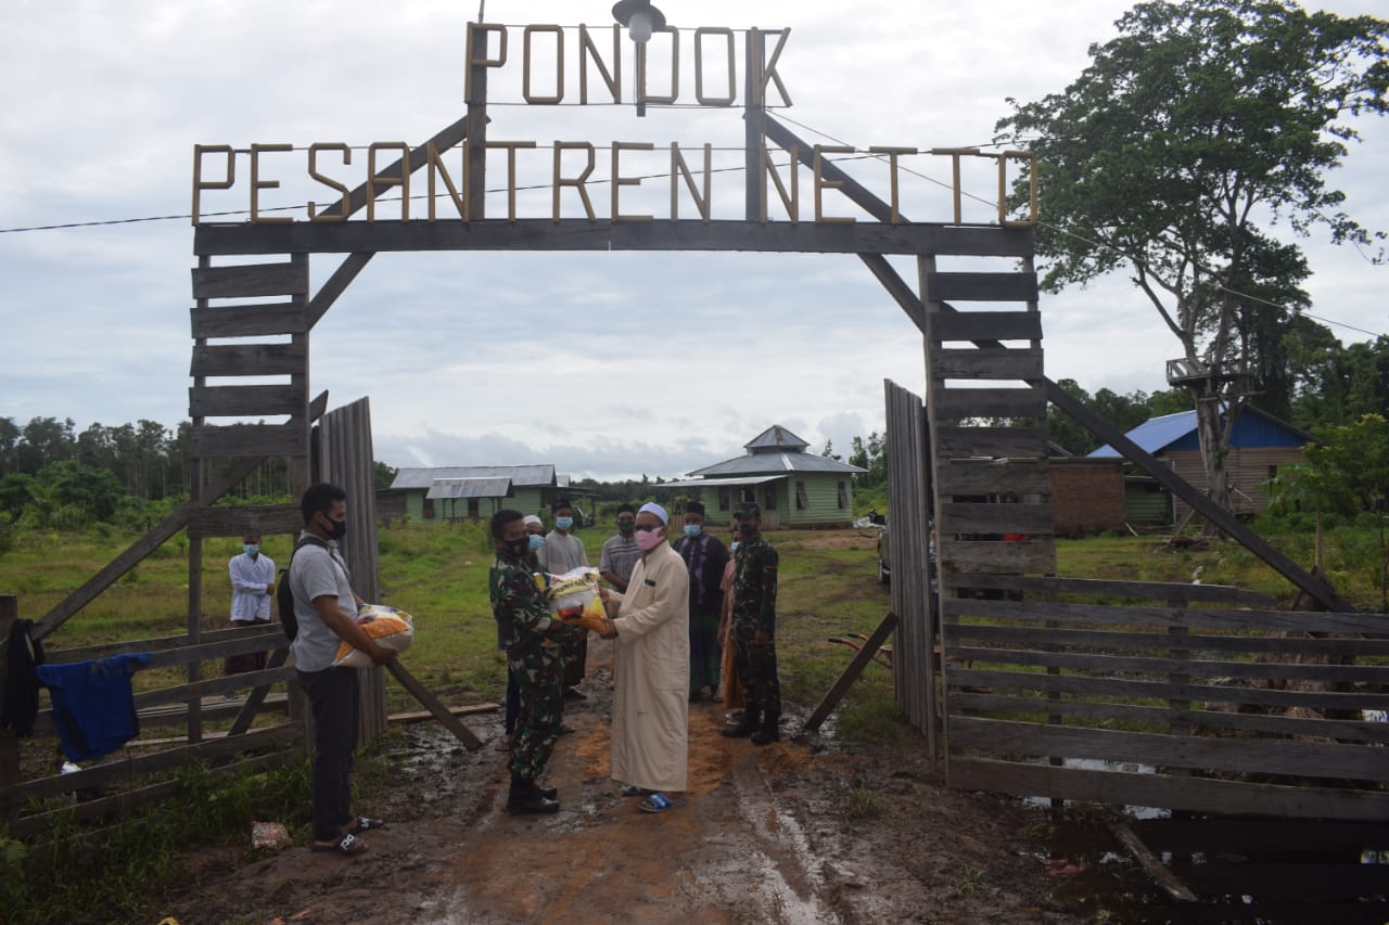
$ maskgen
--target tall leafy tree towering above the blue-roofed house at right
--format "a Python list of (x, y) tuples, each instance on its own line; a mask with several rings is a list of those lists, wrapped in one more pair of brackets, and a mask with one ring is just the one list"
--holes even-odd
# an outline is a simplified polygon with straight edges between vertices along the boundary
[[(999, 140), (1038, 156), (1038, 250), (1056, 292), (1126, 268), (1181, 343), (1210, 496), (1229, 507), (1229, 438), (1308, 275), (1297, 235), (1370, 244), (1326, 171), (1389, 108), (1389, 22), (1288, 0), (1139, 3), (1061, 93), (1018, 104)], [(1020, 190), (1022, 192), (1021, 186)], [(1272, 304), (1270, 304), (1272, 303)]]

